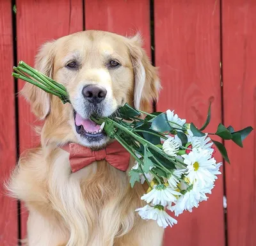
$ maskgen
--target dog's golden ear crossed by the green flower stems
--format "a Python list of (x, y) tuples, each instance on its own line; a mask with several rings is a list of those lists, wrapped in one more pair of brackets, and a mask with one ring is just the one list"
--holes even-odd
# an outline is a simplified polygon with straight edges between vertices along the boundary
[[(52, 78), (55, 56), (54, 42), (47, 42), (40, 48), (35, 59), (36, 70)], [(31, 104), (31, 111), (39, 119), (45, 119), (51, 111), (51, 95), (42, 89), (26, 83), (20, 94)]]

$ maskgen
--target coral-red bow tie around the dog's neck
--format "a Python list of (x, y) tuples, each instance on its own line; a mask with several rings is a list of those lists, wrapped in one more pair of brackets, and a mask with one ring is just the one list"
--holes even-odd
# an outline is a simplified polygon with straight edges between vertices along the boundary
[(97, 151), (92, 151), (88, 147), (74, 143), (67, 144), (62, 149), (69, 152), (72, 173), (92, 164), (96, 160), (106, 160), (110, 165), (121, 171), (126, 171), (129, 166), (130, 154), (117, 141)]

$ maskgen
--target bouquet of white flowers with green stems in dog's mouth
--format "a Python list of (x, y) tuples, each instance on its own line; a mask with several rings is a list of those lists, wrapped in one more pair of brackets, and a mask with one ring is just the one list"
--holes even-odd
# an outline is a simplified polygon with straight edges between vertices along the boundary
[[(69, 102), (63, 85), (23, 61), (13, 69), (14, 77), (58, 96), (63, 103)], [(215, 133), (202, 132), (211, 120), (211, 104), (201, 128), (186, 123), (186, 119), (180, 119), (174, 111), (148, 114), (127, 104), (108, 118), (92, 116), (91, 119), (103, 124), (106, 134), (120, 142), (134, 157), (135, 165), (129, 172), (131, 186), (137, 181), (148, 183), (148, 190), (141, 197), (147, 205), (136, 211), (142, 219), (157, 220), (164, 228), (177, 224), (166, 210), (177, 217), (184, 210), (197, 208), (200, 202), (207, 200), (207, 194), (211, 194), (217, 175), (221, 174), (221, 162), (217, 163), (214, 158), (214, 146), (229, 162), (225, 146), (209, 136), (218, 135), (243, 147), (243, 140), (253, 130), (246, 127), (235, 131), (232, 126), (226, 128), (220, 123)]]

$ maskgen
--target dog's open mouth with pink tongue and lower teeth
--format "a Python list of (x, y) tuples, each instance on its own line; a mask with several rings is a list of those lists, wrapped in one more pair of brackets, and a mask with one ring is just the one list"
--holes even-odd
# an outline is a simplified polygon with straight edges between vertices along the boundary
[(97, 125), (91, 119), (84, 119), (78, 112), (74, 111), (74, 121), (77, 134), (87, 139), (89, 142), (100, 141), (106, 137), (104, 132), (104, 123)]

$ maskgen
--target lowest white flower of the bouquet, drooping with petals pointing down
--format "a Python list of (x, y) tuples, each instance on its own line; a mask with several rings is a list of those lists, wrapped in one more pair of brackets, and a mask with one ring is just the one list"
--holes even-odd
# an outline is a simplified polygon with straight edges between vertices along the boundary
[(164, 211), (164, 207), (161, 205), (156, 205), (154, 207), (146, 205), (143, 208), (138, 208), (135, 211), (139, 212), (139, 215), (144, 220), (156, 220), (158, 226), (166, 228), (168, 225), (170, 227), (173, 224), (177, 224), (177, 220), (173, 219)]

